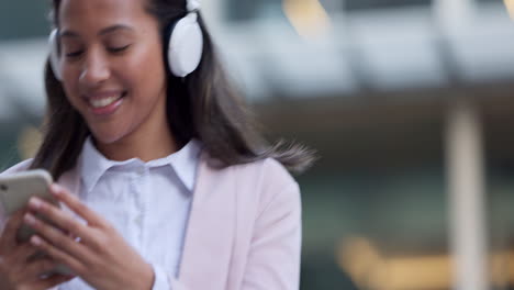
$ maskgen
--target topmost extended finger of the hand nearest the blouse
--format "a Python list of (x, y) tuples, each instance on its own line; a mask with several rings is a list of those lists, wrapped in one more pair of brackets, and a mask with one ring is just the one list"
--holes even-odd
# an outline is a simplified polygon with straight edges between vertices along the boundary
[(70, 194), (65, 188), (54, 183), (51, 186), (51, 192), (59, 201), (64, 202), (75, 213), (85, 219), (89, 225), (104, 227), (105, 222), (96, 212), (90, 210), (86, 204), (80, 202), (75, 196)]

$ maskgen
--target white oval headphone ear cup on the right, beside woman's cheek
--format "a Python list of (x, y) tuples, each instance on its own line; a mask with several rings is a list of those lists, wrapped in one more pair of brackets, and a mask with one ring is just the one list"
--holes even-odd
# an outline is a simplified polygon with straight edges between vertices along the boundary
[(169, 70), (177, 77), (186, 77), (194, 71), (203, 52), (203, 35), (198, 15), (189, 13), (172, 27), (168, 43)]

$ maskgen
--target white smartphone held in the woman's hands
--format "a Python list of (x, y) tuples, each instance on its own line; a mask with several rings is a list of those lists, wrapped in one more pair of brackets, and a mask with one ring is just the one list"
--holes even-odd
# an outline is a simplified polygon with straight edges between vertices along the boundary
[[(0, 203), (7, 216), (27, 205), (31, 197), (38, 197), (57, 208), (60, 208), (57, 200), (49, 192), (52, 176), (43, 169), (21, 171), (0, 177)], [(38, 217), (45, 220), (43, 216)], [(16, 239), (20, 243), (26, 242), (35, 233), (30, 226), (22, 224), (16, 232)], [(41, 257), (42, 255), (37, 255)], [(71, 275), (71, 271), (64, 265), (58, 265), (52, 274)]]

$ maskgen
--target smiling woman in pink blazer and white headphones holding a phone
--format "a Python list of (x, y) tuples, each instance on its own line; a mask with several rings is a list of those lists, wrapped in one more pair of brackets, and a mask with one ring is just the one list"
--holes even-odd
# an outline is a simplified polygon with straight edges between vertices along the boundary
[[(284, 167), (312, 154), (255, 131), (200, 5), (53, 3), (44, 141), (3, 174), (47, 169), (67, 211), (32, 198), (7, 221), (0, 289), (298, 289), (300, 194)], [(22, 223), (37, 232), (25, 244)], [(43, 275), (57, 265), (76, 277)]]

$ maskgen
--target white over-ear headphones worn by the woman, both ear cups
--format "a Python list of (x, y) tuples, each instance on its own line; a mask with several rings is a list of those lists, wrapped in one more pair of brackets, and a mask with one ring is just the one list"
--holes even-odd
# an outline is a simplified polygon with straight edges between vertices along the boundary
[[(187, 0), (188, 14), (170, 26), (170, 36), (167, 46), (167, 62), (171, 74), (176, 77), (186, 77), (193, 72), (202, 59), (203, 35), (198, 23), (200, 3), (197, 0)], [(51, 67), (55, 77), (63, 80), (58, 55), (58, 30), (49, 35)]]

